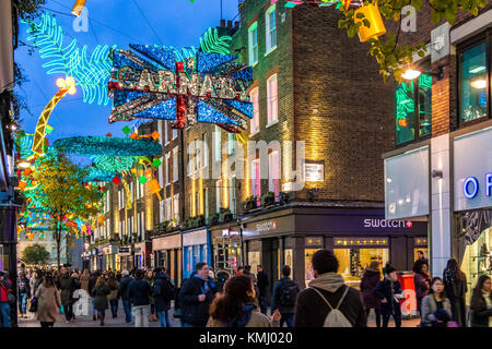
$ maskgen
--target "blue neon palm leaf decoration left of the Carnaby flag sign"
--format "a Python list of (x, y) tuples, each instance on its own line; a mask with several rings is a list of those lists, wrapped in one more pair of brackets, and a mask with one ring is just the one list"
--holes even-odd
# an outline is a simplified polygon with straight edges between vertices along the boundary
[(78, 47), (77, 39), (63, 47), (63, 31), (49, 13), (42, 15), (40, 22), (24, 21), (28, 24), (27, 40), (33, 40), (39, 48), (39, 56), (47, 61), (43, 68), (48, 69), (47, 74), (65, 74), (73, 76), (77, 85), (82, 87), (84, 103), (92, 104), (97, 99), (98, 105), (107, 105), (107, 82), (109, 80), (113, 61), (109, 49), (116, 45), (97, 45), (87, 53), (87, 47)]

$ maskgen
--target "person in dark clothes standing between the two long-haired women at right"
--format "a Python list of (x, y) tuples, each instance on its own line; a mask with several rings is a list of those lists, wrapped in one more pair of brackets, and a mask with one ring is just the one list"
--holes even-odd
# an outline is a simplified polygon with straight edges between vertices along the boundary
[(465, 298), (468, 292), (467, 276), (459, 268), (458, 261), (447, 261), (443, 273), (444, 289), (452, 306), (452, 318), (460, 327), (466, 327), (467, 314)]

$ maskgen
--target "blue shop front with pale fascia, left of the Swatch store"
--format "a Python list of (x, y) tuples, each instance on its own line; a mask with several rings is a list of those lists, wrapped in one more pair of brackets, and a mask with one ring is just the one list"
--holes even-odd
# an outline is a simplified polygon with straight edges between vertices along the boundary
[(212, 263), (208, 229), (183, 231), (183, 277), (189, 278), (198, 262)]

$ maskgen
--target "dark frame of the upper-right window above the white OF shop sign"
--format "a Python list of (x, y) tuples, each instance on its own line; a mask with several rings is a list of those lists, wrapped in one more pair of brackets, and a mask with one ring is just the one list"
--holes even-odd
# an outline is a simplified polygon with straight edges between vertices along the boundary
[[(485, 68), (487, 68), (487, 92), (485, 92), (485, 98), (487, 98), (487, 115), (484, 117), (469, 120), (469, 121), (461, 121), (461, 115), (460, 115), (460, 88), (461, 88), (461, 80), (459, 76), (459, 63), (461, 60), (461, 55), (481, 43), (485, 44)], [(492, 83), (492, 29), (488, 28), (483, 31), (482, 33), (473, 36), (472, 38), (460, 43), (456, 47), (456, 124), (458, 125), (458, 129), (467, 128), (469, 125), (480, 123), (483, 121), (487, 121), (492, 118), (492, 107), (491, 107), (491, 83)]]

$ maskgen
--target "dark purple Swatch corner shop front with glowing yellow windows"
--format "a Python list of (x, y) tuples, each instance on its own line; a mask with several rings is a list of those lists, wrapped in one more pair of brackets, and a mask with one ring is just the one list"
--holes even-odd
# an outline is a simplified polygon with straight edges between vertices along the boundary
[(358, 288), (363, 272), (376, 261), (390, 262), (398, 270), (411, 270), (417, 251), (426, 252), (425, 222), (384, 218), (382, 209), (293, 207), (245, 221), (247, 264), (261, 264), (274, 281), (283, 265), (307, 287), (314, 278), (311, 260), (320, 249), (333, 251), (339, 273)]

